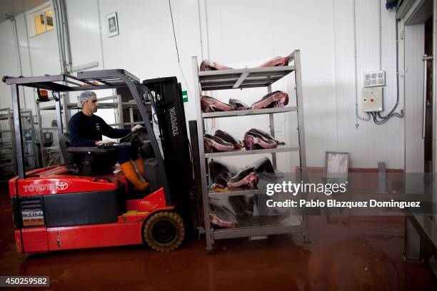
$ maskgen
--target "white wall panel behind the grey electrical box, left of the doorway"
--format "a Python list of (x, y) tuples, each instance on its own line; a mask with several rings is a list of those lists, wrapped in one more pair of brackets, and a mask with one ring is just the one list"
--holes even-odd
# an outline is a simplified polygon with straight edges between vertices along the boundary
[[(403, 168), (403, 119), (392, 118), (383, 126), (358, 121), (355, 115), (355, 64), (353, 1), (335, 0), (336, 116), (339, 151), (351, 153), (351, 166), (376, 168), (378, 161), (388, 168)], [(384, 1), (356, 1), (357, 93), (361, 112), (363, 73), (378, 70), (378, 4), (381, 5), (381, 69), (386, 71), (383, 115), (396, 103), (396, 33), (394, 11), (386, 11)], [(398, 106), (397, 112), (403, 108)], [(358, 127), (356, 126), (358, 124)], [(310, 141), (311, 142), (311, 141)]]

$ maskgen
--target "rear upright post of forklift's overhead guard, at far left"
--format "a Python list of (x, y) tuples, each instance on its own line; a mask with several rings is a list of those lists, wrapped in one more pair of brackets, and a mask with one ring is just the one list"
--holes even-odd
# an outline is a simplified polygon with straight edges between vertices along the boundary
[(16, 167), (19, 178), (26, 177), (24, 170), (24, 151), (23, 138), (21, 136), (21, 111), (20, 111), (20, 93), (17, 84), (11, 84), (12, 91), (12, 110), (14, 111), (14, 129), (15, 129), (15, 148), (16, 148)]

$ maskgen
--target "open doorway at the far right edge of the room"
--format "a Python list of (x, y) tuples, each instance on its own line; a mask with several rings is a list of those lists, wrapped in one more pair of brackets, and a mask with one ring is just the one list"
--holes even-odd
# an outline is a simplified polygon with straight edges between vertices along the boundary
[[(406, 258), (421, 258), (421, 240), (435, 250), (437, 241), (432, 236), (436, 230), (437, 201), (434, 190), (435, 173), (435, 86), (436, 82), (436, 0), (403, 1), (410, 5), (399, 19), (402, 53), (398, 61), (403, 63), (401, 92), (405, 100), (405, 170), (406, 193), (426, 196), (430, 212), (426, 215), (406, 216)], [(407, 11), (408, 10), (408, 11)], [(413, 178), (411, 178), (413, 176)], [(410, 179), (408, 179), (410, 177)], [(422, 196), (423, 197), (423, 196)], [(424, 204), (424, 203), (422, 203)], [(436, 260), (432, 257), (430, 265)]]

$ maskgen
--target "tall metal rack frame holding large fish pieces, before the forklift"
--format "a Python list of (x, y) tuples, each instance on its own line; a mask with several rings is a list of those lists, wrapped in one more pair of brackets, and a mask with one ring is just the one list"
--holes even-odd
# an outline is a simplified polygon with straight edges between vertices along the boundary
[[(302, 80), (301, 80), (301, 58), (300, 51), (293, 51), (289, 56), (290, 62), (293, 62), (293, 66), (278, 66), (268, 68), (241, 68), (230, 69), (223, 71), (199, 71), (199, 63), (197, 57), (192, 58), (195, 80), (195, 102), (197, 114), (197, 134), (199, 143), (199, 156), (200, 156), (200, 168), (201, 168), (201, 185), (202, 196), (204, 204), (204, 219), (205, 219), (205, 231), (206, 231), (206, 250), (214, 250), (214, 240), (226, 239), (226, 238), (245, 238), (260, 235), (275, 235), (285, 233), (301, 233), (303, 241), (308, 240), (306, 235), (308, 223), (306, 222), (305, 215), (302, 215), (301, 221), (293, 223), (293, 225), (285, 225), (280, 223), (271, 223), (268, 220), (252, 218), (248, 221), (238, 223), (236, 228), (228, 229), (214, 229), (211, 227), (209, 218), (209, 198), (217, 195), (217, 197), (223, 197), (223, 195), (248, 195), (258, 194), (259, 190), (238, 190), (228, 193), (214, 193), (211, 192), (208, 182), (208, 173), (206, 162), (208, 158), (223, 157), (229, 155), (252, 155), (252, 154), (265, 154), (270, 153), (272, 155), (273, 167), (276, 168), (276, 153), (279, 152), (291, 152), (296, 151), (299, 153), (299, 170), (301, 177), (306, 177), (306, 153), (305, 153), (305, 134), (303, 128), (303, 96), (302, 96)], [(226, 111), (226, 112), (213, 112), (202, 113), (200, 98), (201, 91), (215, 91), (226, 89), (241, 89), (241, 88), (254, 88), (254, 87), (267, 87), (268, 93), (271, 92), (271, 84), (283, 78), (294, 71), (296, 86), (296, 106), (288, 106), (285, 108), (264, 108), (256, 110), (245, 111)], [(278, 146), (278, 148), (261, 149), (261, 150), (236, 150), (223, 153), (205, 153), (204, 151), (204, 133), (205, 133), (205, 119), (206, 118), (221, 118), (229, 116), (249, 116), (268, 114), (270, 121), (271, 136), (274, 136), (274, 123), (273, 114), (285, 113), (296, 111), (298, 120), (298, 146)], [(305, 178), (303, 178), (305, 179)]]

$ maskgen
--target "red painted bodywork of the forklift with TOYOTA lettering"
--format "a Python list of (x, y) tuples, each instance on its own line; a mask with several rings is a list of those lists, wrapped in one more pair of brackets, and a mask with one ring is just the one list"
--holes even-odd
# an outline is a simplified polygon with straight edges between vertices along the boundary
[[(42, 197), (41, 199), (46, 201), (44, 207), (49, 206), (49, 200), (46, 198), (99, 193), (104, 200), (105, 191), (127, 188), (127, 181), (123, 175), (113, 174), (102, 177), (69, 175), (64, 165), (33, 170), (27, 175), (25, 180), (15, 177), (9, 181), (11, 198), (29, 200), (29, 198)], [(163, 188), (141, 199), (126, 200), (125, 207), (126, 213), (121, 213), (116, 223), (49, 227), (47, 226), (49, 220), (45, 215), (44, 219), (28, 219), (26, 222), (21, 218), (23, 226), (15, 231), (17, 250), (20, 253), (36, 253), (89, 247), (141, 245), (144, 221), (158, 211), (174, 210), (174, 205), (166, 206)], [(44, 212), (44, 208), (41, 210)]]

